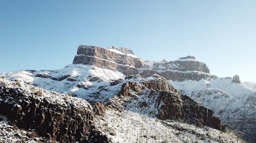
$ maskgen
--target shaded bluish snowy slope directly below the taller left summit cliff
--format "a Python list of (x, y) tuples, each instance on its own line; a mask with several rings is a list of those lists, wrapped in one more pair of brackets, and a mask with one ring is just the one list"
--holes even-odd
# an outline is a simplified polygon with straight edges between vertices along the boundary
[(108, 87), (110, 82), (122, 80), (125, 77), (118, 71), (81, 64), (71, 64), (60, 70), (18, 71), (2, 74), (2, 76), (8, 80), (18, 80), (20, 83), (31, 83), (48, 91), (72, 94), (90, 102), (112, 98), (116, 93), (110, 94), (109, 91), (103, 90), (99, 95), (99, 88)]

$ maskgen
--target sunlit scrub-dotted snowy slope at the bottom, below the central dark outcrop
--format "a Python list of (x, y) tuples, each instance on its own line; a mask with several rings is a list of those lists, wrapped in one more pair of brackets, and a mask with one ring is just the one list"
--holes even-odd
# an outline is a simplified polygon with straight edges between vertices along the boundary
[(97, 118), (96, 126), (113, 142), (245, 142), (231, 130), (161, 121), (129, 110), (108, 109), (104, 117)]

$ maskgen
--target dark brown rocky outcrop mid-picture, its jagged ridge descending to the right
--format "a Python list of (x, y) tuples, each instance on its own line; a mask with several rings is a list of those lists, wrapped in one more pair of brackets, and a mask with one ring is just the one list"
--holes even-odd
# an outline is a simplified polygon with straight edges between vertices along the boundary
[(127, 81), (122, 85), (118, 95), (120, 98), (134, 97), (136, 100), (138, 98), (136, 95), (140, 96), (141, 93), (148, 96), (148, 100), (138, 103), (138, 107), (151, 105), (152, 108), (153, 105), (158, 109), (158, 111), (154, 111), (158, 112), (155, 116), (161, 120), (182, 120), (189, 124), (207, 125), (225, 131), (225, 127), (221, 125), (221, 120), (213, 116), (212, 110), (199, 105), (188, 96), (181, 95), (166, 79), (159, 75), (151, 75), (140, 82)]

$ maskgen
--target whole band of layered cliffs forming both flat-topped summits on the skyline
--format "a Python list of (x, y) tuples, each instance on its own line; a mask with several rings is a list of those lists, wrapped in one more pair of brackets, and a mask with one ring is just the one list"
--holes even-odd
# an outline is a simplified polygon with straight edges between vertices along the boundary
[(126, 48), (80, 45), (73, 64), (94, 65), (101, 68), (118, 70), (125, 75), (140, 74), (146, 77), (159, 74), (174, 81), (200, 80), (202, 78), (216, 78), (209, 74), (205, 63), (199, 62), (194, 56), (186, 56), (176, 61), (143, 62), (133, 51)]

